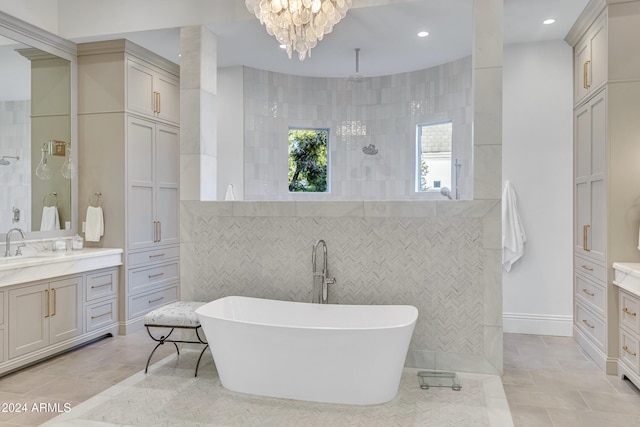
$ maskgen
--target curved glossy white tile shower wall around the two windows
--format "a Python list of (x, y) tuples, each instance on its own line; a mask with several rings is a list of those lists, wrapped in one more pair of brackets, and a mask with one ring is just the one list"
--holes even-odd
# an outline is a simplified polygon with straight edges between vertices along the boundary
[[(470, 93), (470, 57), (359, 83), (245, 68), (244, 199), (433, 197), (415, 192), (416, 125), (449, 119), (464, 187), (472, 176), (466, 171), (472, 150)], [(289, 127), (330, 129), (329, 193), (288, 191)], [(377, 155), (362, 152), (369, 144), (376, 145)]]

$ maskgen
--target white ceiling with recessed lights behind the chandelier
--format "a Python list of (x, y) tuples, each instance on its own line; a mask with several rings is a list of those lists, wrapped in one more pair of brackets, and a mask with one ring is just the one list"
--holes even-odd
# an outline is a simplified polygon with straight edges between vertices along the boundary
[[(241, 1), (241, 0), (238, 0)], [(562, 40), (588, 0), (505, 0), (504, 40), (530, 43)], [(356, 3), (354, 1), (354, 3)], [(395, 0), (378, 6), (354, 7), (332, 33), (311, 51), (311, 57), (289, 59), (260, 22), (248, 12), (234, 22), (208, 26), (216, 34), (218, 65), (246, 65), (295, 75), (346, 77), (355, 71), (355, 48), (360, 48), (360, 73), (388, 75), (455, 60), (471, 53), (472, 0)], [(553, 25), (542, 25), (545, 18)], [(418, 31), (430, 33), (418, 38)], [(126, 36), (179, 63), (180, 30), (163, 29)], [(100, 39), (74, 39), (76, 42)]]

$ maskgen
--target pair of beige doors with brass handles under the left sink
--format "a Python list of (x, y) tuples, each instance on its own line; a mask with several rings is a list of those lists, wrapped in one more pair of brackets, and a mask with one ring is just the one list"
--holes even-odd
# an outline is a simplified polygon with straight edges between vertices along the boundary
[(83, 277), (9, 290), (9, 358), (82, 334)]

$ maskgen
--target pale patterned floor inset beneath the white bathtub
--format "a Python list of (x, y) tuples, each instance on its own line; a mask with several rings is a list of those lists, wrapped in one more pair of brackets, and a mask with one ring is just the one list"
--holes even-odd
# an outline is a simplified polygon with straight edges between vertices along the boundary
[[(46, 426), (512, 426), (499, 376), (458, 373), (461, 390), (420, 388), (405, 368), (398, 395), (355, 406), (253, 396), (225, 389), (210, 357), (194, 377), (197, 351), (169, 356)], [(375, 375), (375, 373), (372, 373)]]

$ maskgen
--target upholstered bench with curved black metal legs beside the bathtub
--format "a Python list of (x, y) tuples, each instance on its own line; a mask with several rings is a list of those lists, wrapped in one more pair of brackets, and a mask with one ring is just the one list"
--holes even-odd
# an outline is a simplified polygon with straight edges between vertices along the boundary
[[(173, 343), (173, 345), (176, 347), (178, 355), (180, 355), (180, 350), (178, 349), (177, 343), (204, 344), (204, 348), (202, 349), (202, 352), (200, 352), (200, 357), (198, 357), (198, 363), (196, 363), (195, 376), (198, 376), (198, 366), (200, 366), (200, 360), (202, 359), (202, 355), (204, 354), (205, 350), (209, 347), (209, 344), (200, 336), (202, 328), (200, 326), (200, 320), (198, 320), (198, 316), (196, 315), (196, 309), (203, 304), (205, 303), (193, 301), (177, 301), (163, 307), (156, 308), (155, 310), (150, 311), (144, 316), (144, 326), (147, 328), (147, 333), (152, 340), (158, 343), (154, 347), (153, 351), (151, 351), (151, 354), (147, 359), (147, 366), (144, 368), (145, 374), (149, 369), (149, 362), (151, 362), (153, 353), (155, 353), (158, 347), (160, 347), (164, 343), (170, 342)], [(160, 336), (160, 338), (156, 338), (151, 333), (151, 328), (171, 328), (171, 330), (166, 336), (162, 335)], [(176, 329), (193, 329), (196, 333), (197, 341), (170, 339), (171, 334)]]

